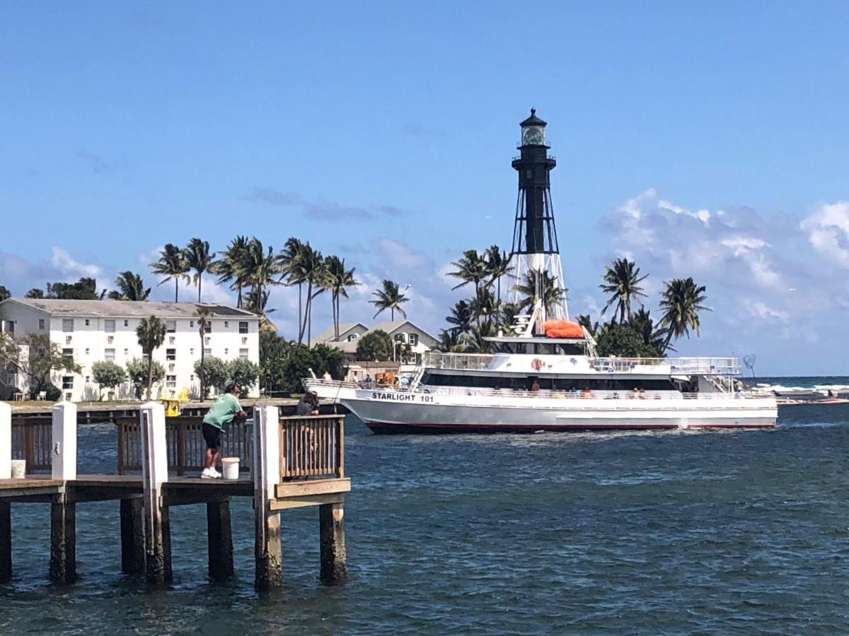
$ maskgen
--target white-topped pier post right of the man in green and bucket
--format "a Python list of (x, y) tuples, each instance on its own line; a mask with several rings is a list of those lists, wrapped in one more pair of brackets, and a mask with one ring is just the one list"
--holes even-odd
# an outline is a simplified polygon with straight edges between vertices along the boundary
[(254, 555), (256, 589), (283, 584), (280, 515), (270, 501), (280, 479), (280, 416), (276, 406), (254, 408)]

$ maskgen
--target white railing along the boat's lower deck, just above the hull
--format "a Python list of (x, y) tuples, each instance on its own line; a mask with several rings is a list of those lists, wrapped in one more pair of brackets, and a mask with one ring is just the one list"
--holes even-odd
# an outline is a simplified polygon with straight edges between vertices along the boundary
[[(325, 387), (340, 390), (342, 388), (368, 389), (380, 393), (407, 394), (411, 391), (407, 388), (395, 388), (388, 385), (363, 382), (344, 382), (339, 380), (323, 380), (322, 378), (310, 378), (306, 380), (309, 387)], [(474, 395), (493, 398), (548, 398), (548, 399), (764, 399), (763, 393), (756, 391), (745, 391), (738, 393), (681, 393), (679, 391), (610, 391), (584, 389), (582, 391), (557, 391), (540, 389), (539, 391), (528, 391), (524, 389), (499, 389), (499, 388), (465, 388), (465, 387), (434, 387), (421, 385), (412, 393), (426, 395)], [(323, 395), (323, 397), (331, 397)]]

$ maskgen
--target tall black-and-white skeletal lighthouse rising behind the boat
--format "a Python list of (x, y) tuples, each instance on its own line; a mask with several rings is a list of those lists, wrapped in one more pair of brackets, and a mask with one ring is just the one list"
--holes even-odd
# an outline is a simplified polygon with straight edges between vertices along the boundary
[[(545, 306), (545, 283), (565, 289), (563, 265), (557, 244), (557, 227), (554, 225), (554, 207), (551, 204), (551, 182), (548, 173), (557, 165), (554, 157), (548, 156), (545, 138), (546, 122), (531, 109), (531, 116), (520, 123), (522, 138), (517, 146), (521, 154), (513, 159), (513, 168), (519, 173), (519, 196), (516, 200), (516, 218), (513, 226), (513, 248), (510, 263), (518, 285), (532, 282), (533, 303), (529, 313), (534, 315), (537, 332), (542, 332), (542, 323), (548, 317), (569, 318), (565, 292), (562, 300)], [(512, 301), (519, 304), (524, 298), (515, 291)]]

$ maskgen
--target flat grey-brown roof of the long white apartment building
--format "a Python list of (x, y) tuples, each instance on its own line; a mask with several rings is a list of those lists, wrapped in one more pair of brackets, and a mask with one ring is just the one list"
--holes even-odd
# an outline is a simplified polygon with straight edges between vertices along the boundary
[(51, 315), (94, 316), (105, 318), (194, 318), (200, 307), (211, 310), (215, 318), (259, 320), (248, 310), (239, 310), (217, 303), (154, 303), (137, 300), (58, 300), (55, 298), (8, 298), (5, 303), (23, 304)]

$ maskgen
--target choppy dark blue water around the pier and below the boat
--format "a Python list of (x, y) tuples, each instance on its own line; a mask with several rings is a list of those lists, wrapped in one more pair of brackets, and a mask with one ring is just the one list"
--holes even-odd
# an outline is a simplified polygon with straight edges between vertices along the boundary
[[(82, 429), (81, 471), (114, 466)], [(121, 574), (116, 502), (77, 506), (80, 581), (46, 581), (48, 506), (13, 505), (0, 633), (846, 633), (849, 406), (773, 431), (375, 437), (347, 428), (350, 580), (318, 583), (318, 512), (284, 512), (283, 589), (205, 576), (205, 508), (171, 510), (173, 586)], [(97, 449), (90, 452), (88, 449)]]

